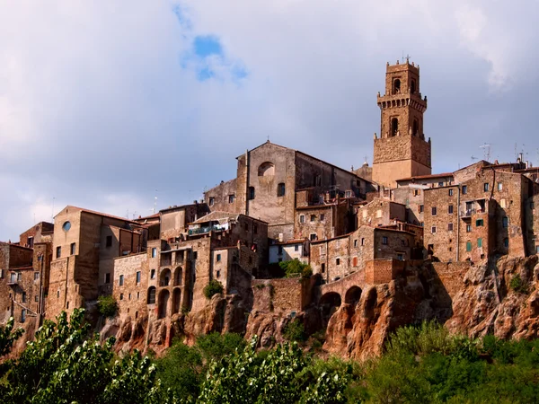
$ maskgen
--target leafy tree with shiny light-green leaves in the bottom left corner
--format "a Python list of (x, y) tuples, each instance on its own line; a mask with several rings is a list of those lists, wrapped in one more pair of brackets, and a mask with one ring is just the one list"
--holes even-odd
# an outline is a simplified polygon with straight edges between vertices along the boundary
[(156, 402), (155, 365), (135, 351), (113, 362), (114, 338), (89, 337), (84, 310), (45, 321), (4, 375), (4, 403)]

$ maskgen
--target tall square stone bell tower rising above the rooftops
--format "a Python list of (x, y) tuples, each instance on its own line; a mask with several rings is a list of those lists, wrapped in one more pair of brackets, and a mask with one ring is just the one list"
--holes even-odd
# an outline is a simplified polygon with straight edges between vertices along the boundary
[(421, 98), (420, 66), (399, 64), (385, 69), (385, 93), (378, 92), (381, 110), (380, 136), (375, 135), (373, 180), (395, 188), (396, 180), (429, 175), (430, 139), (425, 141), (423, 113), (427, 97)]

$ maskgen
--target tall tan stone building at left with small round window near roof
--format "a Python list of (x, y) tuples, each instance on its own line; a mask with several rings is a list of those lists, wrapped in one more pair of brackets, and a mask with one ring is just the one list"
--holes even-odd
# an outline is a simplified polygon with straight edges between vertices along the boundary
[(137, 222), (66, 206), (55, 216), (47, 317), (72, 312), (112, 294), (114, 259), (146, 250), (147, 231)]

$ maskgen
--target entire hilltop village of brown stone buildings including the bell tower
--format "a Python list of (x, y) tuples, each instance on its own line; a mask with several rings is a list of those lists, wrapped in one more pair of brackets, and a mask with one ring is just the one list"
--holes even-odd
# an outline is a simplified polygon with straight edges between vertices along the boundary
[[(0, 322), (13, 316), (27, 338), (75, 308), (97, 322), (98, 297), (111, 295), (120, 321), (133, 333), (160, 324), (166, 347), (174, 321), (208, 306), (211, 281), (242, 301), (236, 328), (219, 330), (244, 332), (254, 311), (293, 317), (308, 307), (327, 325), (368, 285), (425, 260), (461, 268), (539, 252), (539, 169), (521, 156), (433, 174), (413, 63), (386, 66), (377, 104), (372, 167), (345, 170), (268, 141), (190, 205), (137, 220), (66, 206), (54, 224), (0, 243)], [(313, 276), (276, 275), (275, 264), (293, 259)]]

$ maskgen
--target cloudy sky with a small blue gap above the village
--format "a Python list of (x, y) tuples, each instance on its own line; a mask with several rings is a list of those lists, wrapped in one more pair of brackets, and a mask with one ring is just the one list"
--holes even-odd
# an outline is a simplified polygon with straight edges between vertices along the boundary
[(539, 165), (538, 0), (0, 0), (0, 241), (66, 205), (151, 215), (270, 139), (372, 162), (386, 62), (420, 65), (433, 172)]

